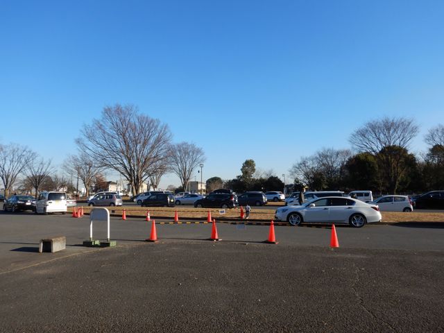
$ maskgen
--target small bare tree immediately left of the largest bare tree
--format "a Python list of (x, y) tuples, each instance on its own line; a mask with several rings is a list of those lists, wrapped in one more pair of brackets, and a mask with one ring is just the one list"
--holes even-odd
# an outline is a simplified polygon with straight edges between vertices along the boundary
[(96, 177), (103, 171), (103, 167), (86, 153), (68, 157), (64, 169), (69, 173), (76, 174), (82, 180), (85, 185), (86, 196), (89, 196), (89, 189), (94, 185)]

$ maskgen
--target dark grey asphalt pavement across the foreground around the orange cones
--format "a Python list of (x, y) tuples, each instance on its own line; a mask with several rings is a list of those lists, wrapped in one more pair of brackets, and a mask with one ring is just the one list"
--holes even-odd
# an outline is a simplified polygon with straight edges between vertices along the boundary
[[(105, 225), (93, 226), (95, 238)], [(444, 228), (157, 225), (0, 213), (1, 332), (443, 332)], [(38, 253), (65, 235), (66, 250)]]

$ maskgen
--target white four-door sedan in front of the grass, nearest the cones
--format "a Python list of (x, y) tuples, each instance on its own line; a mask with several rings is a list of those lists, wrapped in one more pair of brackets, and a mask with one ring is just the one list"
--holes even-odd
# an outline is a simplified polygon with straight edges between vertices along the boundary
[(291, 225), (300, 223), (343, 223), (361, 228), (366, 223), (381, 221), (377, 205), (339, 196), (318, 198), (300, 206), (287, 206), (276, 210), (276, 221)]

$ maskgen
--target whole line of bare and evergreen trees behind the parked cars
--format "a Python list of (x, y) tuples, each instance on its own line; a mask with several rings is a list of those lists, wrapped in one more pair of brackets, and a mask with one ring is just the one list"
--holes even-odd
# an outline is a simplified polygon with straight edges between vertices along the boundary
[[(409, 144), (418, 135), (413, 119), (384, 118), (369, 121), (349, 137), (351, 149), (322, 148), (302, 156), (289, 174), (293, 185), (313, 190), (371, 189), (380, 193), (421, 192), (444, 186), (444, 126), (429, 129), (427, 151), (415, 155)], [(166, 173), (174, 173), (186, 189), (191, 175), (205, 162), (203, 149), (189, 142), (172, 142), (171, 130), (159, 119), (139, 112), (135, 105), (105, 107), (99, 119), (80, 130), (78, 152), (69, 155), (58, 176), (51, 160), (19, 144), (0, 144), (0, 179), (5, 196), (17, 185), (37, 195), (42, 189), (74, 191), (72, 178), (85, 189), (104, 186), (103, 174), (116, 171), (126, 179), (133, 195), (142, 184), (157, 188)], [(68, 175), (68, 176), (66, 176)], [(71, 182), (69, 182), (69, 175)], [(241, 174), (232, 180), (212, 177), (207, 191), (225, 187), (234, 191), (280, 190), (284, 182), (273, 171), (256, 169), (246, 160)]]

